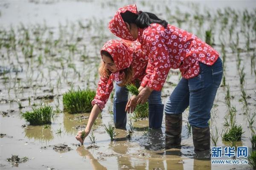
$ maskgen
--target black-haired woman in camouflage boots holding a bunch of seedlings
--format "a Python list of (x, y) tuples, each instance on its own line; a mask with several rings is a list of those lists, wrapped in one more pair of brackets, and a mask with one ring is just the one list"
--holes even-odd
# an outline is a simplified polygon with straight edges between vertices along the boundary
[(144, 103), (151, 91), (163, 88), (170, 68), (182, 79), (166, 102), (166, 146), (180, 146), (182, 114), (189, 106), (195, 151), (209, 150), (210, 111), (223, 69), (219, 54), (194, 34), (169, 25), (155, 14), (137, 11), (136, 5), (119, 10), (110, 31), (125, 40), (139, 40), (149, 61), (140, 94), (129, 99), (126, 109)]

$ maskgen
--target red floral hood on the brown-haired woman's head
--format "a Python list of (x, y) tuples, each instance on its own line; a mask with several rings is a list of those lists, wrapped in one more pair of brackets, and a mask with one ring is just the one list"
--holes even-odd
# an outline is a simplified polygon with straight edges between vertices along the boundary
[(102, 51), (107, 51), (118, 71), (128, 68), (133, 59), (133, 49), (123, 40), (108, 40), (102, 47)]

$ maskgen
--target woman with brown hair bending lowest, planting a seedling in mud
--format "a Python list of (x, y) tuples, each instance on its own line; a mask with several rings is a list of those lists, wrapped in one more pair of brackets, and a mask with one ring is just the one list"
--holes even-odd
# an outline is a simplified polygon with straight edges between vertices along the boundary
[[(99, 68), (100, 80), (96, 96), (92, 101), (93, 109), (84, 130), (85, 137), (90, 133), (91, 127), (100, 111), (105, 107), (113, 90), (114, 80), (116, 81), (113, 101), (114, 124), (116, 128), (125, 128), (125, 106), (128, 101), (128, 90), (125, 85), (134, 83), (135, 80), (141, 82), (145, 76), (145, 69), (148, 63), (148, 58), (140, 48), (140, 42), (127, 40), (109, 40), (102, 47), (102, 64)], [(151, 93), (148, 98), (148, 105), (149, 127), (158, 129), (161, 127), (163, 120), (163, 104), (160, 91)], [(129, 111), (133, 112), (134, 108), (131, 107)], [(154, 117), (155, 114), (157, 115), (156, 117)], [(83, 143), (84, 139), (81, 138), (81, 133), (82, 131), (78, 132), (76, 139)]]

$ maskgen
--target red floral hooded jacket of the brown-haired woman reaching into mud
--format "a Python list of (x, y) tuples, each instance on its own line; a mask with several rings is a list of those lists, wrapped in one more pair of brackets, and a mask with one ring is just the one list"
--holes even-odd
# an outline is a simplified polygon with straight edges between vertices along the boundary
[(132, 82), (138, 79), (140, 82), (145, 76), (145, 70), (148, 59), (145, 53), (140, 49), (141, 45), (138, 41), (127, 40), (109, 40), (102, 47), (101, 51), (107, 51), (111, 54), (118, 71), (111, 73), (109, 77), (100, 77), (96, 96), (92, 101), (92, 105), (98, 105), (102, 110), (113, 90), (113, 81), (122, 81), (124, 70), (132, 65), (134, 76)]

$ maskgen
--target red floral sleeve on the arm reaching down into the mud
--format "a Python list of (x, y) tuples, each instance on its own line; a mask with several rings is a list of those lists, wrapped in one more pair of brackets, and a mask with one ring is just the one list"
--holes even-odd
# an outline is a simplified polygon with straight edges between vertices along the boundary
[(102, 110), (103, 108), (105, 108), (105, 104), (107, 103), (112, 90), (113, 81), (111, 81), (111, 79), (108, 77), (100, 77), (96, 96), (94, 97), (91, 104), (98, 105), (99, 108)]

